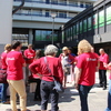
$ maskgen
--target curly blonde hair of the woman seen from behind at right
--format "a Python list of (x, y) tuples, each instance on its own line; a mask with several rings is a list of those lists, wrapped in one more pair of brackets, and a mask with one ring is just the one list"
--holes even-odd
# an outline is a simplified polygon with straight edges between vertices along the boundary
[(78, 44), (78, 52), (84, 53), (84, 52), (91, 52), (91, 44), (87, 40), (81, 40)]

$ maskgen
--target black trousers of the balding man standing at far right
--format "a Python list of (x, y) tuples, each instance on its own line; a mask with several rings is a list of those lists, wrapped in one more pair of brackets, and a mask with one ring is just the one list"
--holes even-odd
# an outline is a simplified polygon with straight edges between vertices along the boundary
[(107, 70), (99, 70), (100, 85), (107, 88)]

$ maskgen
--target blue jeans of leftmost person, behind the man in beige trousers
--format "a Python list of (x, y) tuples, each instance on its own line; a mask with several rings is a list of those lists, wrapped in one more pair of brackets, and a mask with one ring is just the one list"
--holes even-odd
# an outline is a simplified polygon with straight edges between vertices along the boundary
[(1, 90), (1, 102), (4, 103), (7, 102), (7, 88), (8, 83), (2, 83), (2, 90)]

